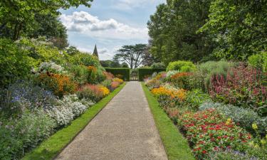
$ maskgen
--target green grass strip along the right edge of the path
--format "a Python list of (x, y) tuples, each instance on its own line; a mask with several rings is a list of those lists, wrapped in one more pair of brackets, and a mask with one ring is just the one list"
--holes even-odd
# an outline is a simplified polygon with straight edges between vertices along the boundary
[(142, 88), (147, 97), (147, 102), (155, 119), (168, 159), (193, 160), (194, 156), (192, 155), (192, 150), (189, 147), (187, 139), (182, 136), (179, 129), (172, 123), (172, 120), (159, 107), (159, 102), (157, 102), (157, 99), (148, 90), (144, 82), (142, 82)]

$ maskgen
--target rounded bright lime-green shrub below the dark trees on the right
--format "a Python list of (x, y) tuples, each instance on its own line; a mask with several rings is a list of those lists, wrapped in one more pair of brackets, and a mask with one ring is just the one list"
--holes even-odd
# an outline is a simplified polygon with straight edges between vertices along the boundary
[(191, 61), (178, 60), (169, 63), (167, 66), (167, 71), (178, 70), (179, 72), (193, 72), (196, 70), (196, 66)]

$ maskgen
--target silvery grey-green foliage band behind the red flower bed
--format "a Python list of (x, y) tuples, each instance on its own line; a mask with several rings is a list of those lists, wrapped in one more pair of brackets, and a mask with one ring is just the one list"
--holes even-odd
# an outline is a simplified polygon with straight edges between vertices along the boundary
[(244, 127), (248, 132), (255, 134), (252, 128), (252, 124), (254, 123), (258, 125), (258, 130), (261, 134), (266, 134), (267, 132), (267, 118), (258, 116), (258, 114), (251, 109), (224, 105), (221, 103), (205, 102), (200, 105), (199, 110), (209, 110), (212, 108), (226, 115), (226, 117), (230, 117), (236, 124)]

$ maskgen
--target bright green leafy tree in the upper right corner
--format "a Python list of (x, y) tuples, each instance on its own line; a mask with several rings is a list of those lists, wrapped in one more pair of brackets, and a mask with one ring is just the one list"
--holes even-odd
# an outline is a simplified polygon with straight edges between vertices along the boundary
[(214, 53), (228, 60), (247, 60), (267, 48), (267, 1), (214, 0), (209, 21), (199, 33), (214, 36)]

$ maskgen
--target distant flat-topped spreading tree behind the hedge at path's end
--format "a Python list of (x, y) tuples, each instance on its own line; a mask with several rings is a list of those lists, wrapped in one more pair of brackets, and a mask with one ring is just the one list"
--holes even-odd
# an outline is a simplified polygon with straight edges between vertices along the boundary
[(120, 50), (117, 50), (118, 53), (114, 56), (114, 59), (127, 63), (131, 69), (137, 68), (142, 64), (146, 50), (146, 44), (122, 46)]

